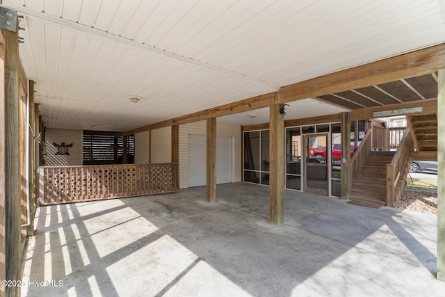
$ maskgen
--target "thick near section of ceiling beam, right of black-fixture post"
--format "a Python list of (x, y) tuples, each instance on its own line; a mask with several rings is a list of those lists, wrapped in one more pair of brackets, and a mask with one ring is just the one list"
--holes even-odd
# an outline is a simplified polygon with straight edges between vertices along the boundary
[(281, 88), (277, 103), (286, 103), (430, 74), (445, 65), (445, 43), (341, 70)]

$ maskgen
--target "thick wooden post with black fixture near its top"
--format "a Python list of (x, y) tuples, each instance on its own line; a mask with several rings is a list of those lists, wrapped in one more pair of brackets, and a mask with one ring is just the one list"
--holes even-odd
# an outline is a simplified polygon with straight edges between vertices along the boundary
[(284, 223), (284, 104), (269, 108), (269, 223)]

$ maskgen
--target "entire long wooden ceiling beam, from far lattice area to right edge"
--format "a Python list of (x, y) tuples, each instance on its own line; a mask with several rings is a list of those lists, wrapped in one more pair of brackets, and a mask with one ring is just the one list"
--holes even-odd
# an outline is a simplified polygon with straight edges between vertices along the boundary
[[(368, 63), (365, 65), (341, 70), (323, 77), (316, 77), (300, 83), (294, 83), (281, 88), (274, 93), (267, 93), (249, 99), (224, 104), (212, 109), (198, 111), (183, 115), (163, 122), (157, 122), (137, 129), (122, 132), (122, 135), (130, 135), (137, 132), (159, 129), (172, 125), (182, 125), (188, 122), (197, 122), (207, 118), (217, 118), (223, 115), (241, 113), (261, 109), (271, 104), (293, 102), (300, 99), (314, 98), (318, 96), (338, 93), (365, 86), (374, 86), (379, 83), (387, 83), (399, 79), (430, 74), (445, 64), (445, 43), (419, 49), (407, 54), (387, 58), (385, 60)], [(351, 115), (352, 116), (352, 115)], [(355, 118), (351, 118), (355, 120)], [(366, 120), (366, 118), (359, 119)]]

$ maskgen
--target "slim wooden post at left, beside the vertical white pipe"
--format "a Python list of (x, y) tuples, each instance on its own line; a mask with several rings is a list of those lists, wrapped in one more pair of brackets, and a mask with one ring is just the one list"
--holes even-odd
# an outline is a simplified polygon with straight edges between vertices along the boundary
[(30, 214), (30, 225), (26, 230), (27, 236), (34, 236), (34, 215), (35, 215), (35, 102), (34, 102), (34, 81), (28, 81), (28, 96), (29, 96), (29, 127), (32, 131), (29, 131), (29, 172), (28, 172), (28, 185), (29, 185), (29, 214)]

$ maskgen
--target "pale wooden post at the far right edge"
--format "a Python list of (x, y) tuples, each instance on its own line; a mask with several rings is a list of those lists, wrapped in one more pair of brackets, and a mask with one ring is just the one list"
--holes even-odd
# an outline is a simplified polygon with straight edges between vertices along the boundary
[[(439, 70), (437, 94), (437, 180), (445, 179), (445, 69)], [(445, 183), (437, 183), (437, 280), (445, 282)]]

